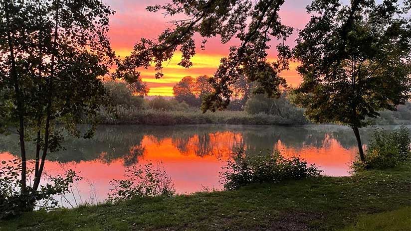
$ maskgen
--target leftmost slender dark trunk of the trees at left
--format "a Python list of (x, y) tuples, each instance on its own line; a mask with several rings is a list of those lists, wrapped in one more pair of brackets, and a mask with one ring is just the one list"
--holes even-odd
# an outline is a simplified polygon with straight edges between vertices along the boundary
[(10, 61), (11, 61), (11, 77), (13, 79), (14, 92), (16, 94), (17, 101), (17, 114), (18, 114), (18, 134), (20, 139), (20, 152), (21, 152), (21, 194), (26, 194), (26, 152), (25, 152), (25, 143), (24, 143), (24, 113), (23, 113), (23, 103), (20, 87), (18, 84), (18, 76), (15, 65), (15, 56), (14, 56), (14, 45), (11, 38), (11, 28), (10, 28), (10, 19), (8, 15), (8, 9), (5, 7), (5, 18), (6, 24), (8, 26), (7, 40), (8, 48), (10, 50)]

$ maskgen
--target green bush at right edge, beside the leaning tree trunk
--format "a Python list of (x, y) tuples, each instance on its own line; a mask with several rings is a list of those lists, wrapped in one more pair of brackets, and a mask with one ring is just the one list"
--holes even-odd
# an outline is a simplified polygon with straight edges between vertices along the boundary
[(353, 164), (356, 171), (385, 169), (401, 165), (411, 159), (411, 139), (407, 127), (387, 132), (376, 129), (365, 152), (365, 162), (357, 160)]

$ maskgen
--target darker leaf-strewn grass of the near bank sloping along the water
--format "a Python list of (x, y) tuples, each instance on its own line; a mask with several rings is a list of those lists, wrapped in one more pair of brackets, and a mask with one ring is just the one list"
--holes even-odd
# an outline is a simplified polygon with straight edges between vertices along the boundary
[[(341, 230), (357, 221), (357, 226), (362, 226), (383, 218), (401, 220), (408, 213), (403, 208), (411, 206), (410, 192), (408, 165), (353, 177), (255, 184), (231, 192), (139, 198), (117, 205), (50, 213), (38, 211), (0, 222), (0, 231)], [(400, 212), (374, 217), (395, 210)], [(390, 224), (403, 230), (400, 222)]]

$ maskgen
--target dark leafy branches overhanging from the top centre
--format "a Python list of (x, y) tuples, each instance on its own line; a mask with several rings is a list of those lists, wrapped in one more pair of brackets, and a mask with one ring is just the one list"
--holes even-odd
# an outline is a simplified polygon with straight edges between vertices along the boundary
[[(288, 69), (291, 52), (283, 41), (292, 33), (292, 28), (281, 23), (279, 10), (284, 0), (173, 0), (164, 5), (147, 7), (149, 11), (164, 11), (167, 16), (184, 15), (185, 19), (174, 20), (174, 27), (164, 30), (157, 40), (142, 38), (133, 52), (119, 63), (117, 73), (140, 75), (137, 68), (148, 68), (154, 62), (156, 78), (161, 78), (164, 61), (170, 60), (177, 49), (182, 53), (179, 65), (191, 67), (191, 58), (196, 54), (194, 35), (204, 38), (220, 37), (221, 43), (231, 39), (240, 45), (232, 46), (229, 55), (220, 60), (220, 65), (210, 80), (214, 91), (204, 97), (203, 111), (222, 110), (230, 102), (231, 86), (240, 75), (248, 81), (260, 83), (259, 92), (269, 97), (279, 97), (279, 87), (285, 80), (279, 73)], [(267, 62), (266, 50), (271, 39), (282, 40), (277, 45), (278, 60)]]

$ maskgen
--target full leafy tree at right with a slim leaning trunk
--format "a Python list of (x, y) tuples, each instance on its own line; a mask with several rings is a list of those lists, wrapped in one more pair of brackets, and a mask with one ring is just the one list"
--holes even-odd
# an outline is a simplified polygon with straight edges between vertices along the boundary
[(359, 128), (366, 117), (410, 99), (411, 6), (398, 3), (314, 0), (294, 49), (303, 77), (295, 102), (316, 122), (351, 126), (363, 161)]

